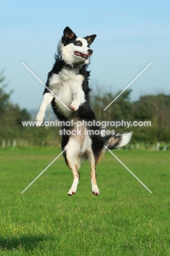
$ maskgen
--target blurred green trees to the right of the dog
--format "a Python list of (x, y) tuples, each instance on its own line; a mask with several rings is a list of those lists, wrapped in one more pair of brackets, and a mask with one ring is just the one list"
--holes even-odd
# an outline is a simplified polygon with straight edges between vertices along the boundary
[(104, 109), (119, 94), (100, 90), (92, 96), (92, 108), (99, 120), (116, 120), (116, 121), (136, 121), (139, 124), (144, 121), (150, 121), (151, 126), (120, 126), (116, 132), (133, 131), (133, 142), (170, 141), (170, 95), (157, 94), (141, 96), (138, 101), (131, 102), (130, 94), (132, 90), (126, 90), (116, 101), (105, 111)]

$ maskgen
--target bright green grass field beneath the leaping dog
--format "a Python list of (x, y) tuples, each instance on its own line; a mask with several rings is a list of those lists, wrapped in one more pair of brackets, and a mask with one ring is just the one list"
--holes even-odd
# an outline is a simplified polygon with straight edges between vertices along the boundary
[(77, 193), (55, 148), (0, 149), (0, 255), (170, 255), (169, 151), (114, 150), (153, 192), (107, 152), (97, 166), (100, 195), (92, 195), (89, 163)]

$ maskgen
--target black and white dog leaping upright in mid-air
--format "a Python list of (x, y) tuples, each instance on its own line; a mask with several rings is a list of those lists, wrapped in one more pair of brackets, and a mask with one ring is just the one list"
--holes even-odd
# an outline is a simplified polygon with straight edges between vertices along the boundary
[[(95, 37), (93, 34), (80, 38), (69, 27), (64, 29), (62, 39), (58, 43), (58, 53), (55, 55), (56, 62), (48, 73), (46, 87), (50, 90), (44, 90), (43, 101), (36, 118), (37, 123), (43, 123), (45, 110), (51, 103), (58, 120), (62, 121), (63, 131), (69, 131), (62, 135), (62, 150), (69, 146), (64, 152), (65, 162), (74, 177), (68, 195), (76, 193), (81, 160), (87, 158), (91, 165), (92, 193), (99, 195), (95, 167), (106, 151), (105, 146), (108, 149), (122, 147), (130, 141), (132, 135), (129, 132), (123, 135), (101, 136), (99, 126), (95, 124), (95, 114), (89, 101), (90, 72), (87, 71), (89, 57), (93, 53), (90, 45)], [(66, 122), (70, 120), (73, 121), (67, 126)], [(82, 125), (78, 125), (77, 131), (77, 123), (80, 124), (80, 121)]]

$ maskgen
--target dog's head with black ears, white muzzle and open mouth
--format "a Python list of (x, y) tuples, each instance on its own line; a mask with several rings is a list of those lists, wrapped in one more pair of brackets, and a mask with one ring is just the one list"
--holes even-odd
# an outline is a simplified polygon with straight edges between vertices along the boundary
[(66, 27), (58, 45), (59, 55), (62, 56), (62, 60), (69, 64), (83, 61), (88, 64), (89, 57), (93, 53), (90, 44), (93, 43), (95, 37), (96, 34), (84, 38), (77, 37), (69, 27)]

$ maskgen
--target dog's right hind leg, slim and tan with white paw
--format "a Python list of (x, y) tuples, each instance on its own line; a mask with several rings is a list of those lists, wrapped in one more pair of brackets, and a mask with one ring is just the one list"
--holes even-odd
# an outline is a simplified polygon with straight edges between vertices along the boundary
[(92, 182), (92, 193), (93, 195), (99, 195), (100, 192), (99, 192), (97, 181), (96, 181), (96, 171), (95, 171), (96, 162), (95, 162), (94, 154), (92, 150), (88, 150), (87, 154), (88, 154), (88, 159), (91, 165), (90, 178)]

